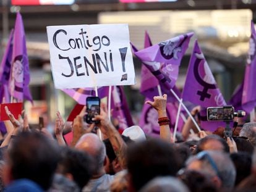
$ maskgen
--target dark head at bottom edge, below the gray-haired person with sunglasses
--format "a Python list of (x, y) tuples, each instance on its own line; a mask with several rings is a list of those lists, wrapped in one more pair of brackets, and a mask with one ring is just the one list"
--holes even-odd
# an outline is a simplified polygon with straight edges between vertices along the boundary
[(217, 192), (218, 188), (211, 180), (210, 175), (196, 170), (186, 170), (178, 177), (184, 182), (190, 191)]

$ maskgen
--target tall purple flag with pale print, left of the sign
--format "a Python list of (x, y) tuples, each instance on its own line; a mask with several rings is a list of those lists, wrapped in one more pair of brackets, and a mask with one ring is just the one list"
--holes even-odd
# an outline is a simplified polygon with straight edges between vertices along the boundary
[(27, 99), (33, 102), (29, 90), (30, 72), (25, 40), (25, 31), (23, 28), (22, 16), (17, 12), (15, 27), (14, 27), (14, 41), (12, 51), (12, 65), (11, 78), (9, 81), (9, 89), (11, 96), (18, 101)]

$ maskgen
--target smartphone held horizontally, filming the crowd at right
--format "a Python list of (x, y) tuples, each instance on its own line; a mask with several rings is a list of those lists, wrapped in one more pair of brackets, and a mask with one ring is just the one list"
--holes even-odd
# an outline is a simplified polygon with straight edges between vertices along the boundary
[(222, 120), (229, 121), (234, 119), (234, 107), (208, 107), (207, 108), (207, 120)]

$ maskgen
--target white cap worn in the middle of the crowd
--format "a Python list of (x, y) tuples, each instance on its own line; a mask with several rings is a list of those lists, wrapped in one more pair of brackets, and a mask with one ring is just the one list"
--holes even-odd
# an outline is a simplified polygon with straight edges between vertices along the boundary
[(133, 125), (131, 127), (126, 128), (122, 132), (122, 135), (129, 136), (129, 138), (134, 141), (146, 140), (145, 133), (143, 132), (142, 128), (140, 128), (138, 125)]

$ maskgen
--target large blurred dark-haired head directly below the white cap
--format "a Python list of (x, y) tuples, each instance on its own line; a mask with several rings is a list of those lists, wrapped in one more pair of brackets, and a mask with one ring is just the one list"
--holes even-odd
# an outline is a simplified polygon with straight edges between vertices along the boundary
[(129, 187), (138, 191), (154, 177), (176, 175), (178, 165), (174, 147), (165, 141), (150, 139), (131, 144), (127, 150)]

